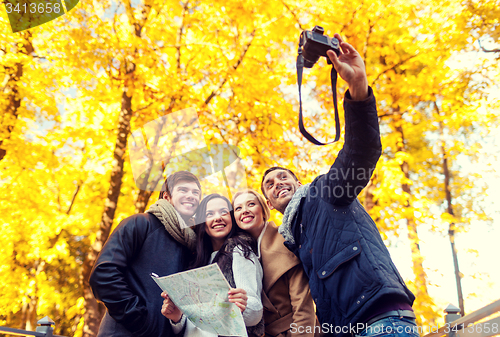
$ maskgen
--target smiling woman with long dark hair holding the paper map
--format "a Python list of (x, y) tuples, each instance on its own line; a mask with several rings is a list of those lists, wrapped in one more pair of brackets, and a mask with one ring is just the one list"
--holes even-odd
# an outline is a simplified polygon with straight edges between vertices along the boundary
[[(179, 202), (187, 200), (180, 198)], [(196, 257), (191, 268), (216, 262), (232, 287), (228, 298), (240, 308), (248, 336), (262, 336), (263, 275), (256, 256), (255, 239), (236, 226), (231, 203), (219, 194), (208, 195), (201, 201), (196, 213), (196, 223), (199, 223), (196, 229)], [(162, 293), (162, 296), (165, 299), (162, 314), (170, 319), (176, 334), (186, 326), (184, 336), (216, 336), (199, 330), (191, 321), (186, 320), (168, 294)]]

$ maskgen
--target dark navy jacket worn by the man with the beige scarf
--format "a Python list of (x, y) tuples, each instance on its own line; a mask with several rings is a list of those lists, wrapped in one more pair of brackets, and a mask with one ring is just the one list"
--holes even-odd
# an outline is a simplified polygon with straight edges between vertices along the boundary
[(174, 336), (161, 314), (161, 289), (150, 274), (183, 271), (189, 256), (153, 214), (135, 214), (120, 222), (90, 276), (94, 296), (107, 308), (98, 336)]

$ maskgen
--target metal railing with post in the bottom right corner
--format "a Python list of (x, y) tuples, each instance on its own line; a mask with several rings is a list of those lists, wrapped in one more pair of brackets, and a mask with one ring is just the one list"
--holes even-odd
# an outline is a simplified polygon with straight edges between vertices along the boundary
[[(445, 326), (424, 337), (491, 337), (500, 335), (500, 300), (464, 317), (460, 309), (450, 304), (445, 310)], [(495, 315), (498, 314), (498, 315)], [(493, 316), (488, 320), (485, 320)]]

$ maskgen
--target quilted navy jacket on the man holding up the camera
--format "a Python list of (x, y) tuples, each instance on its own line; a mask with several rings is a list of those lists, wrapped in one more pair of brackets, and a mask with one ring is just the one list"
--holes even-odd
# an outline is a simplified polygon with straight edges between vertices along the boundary
[(415, 299), (357, 199), (382, 152), (371, 88), (364, 101), (352, 101), (347, 92), (344, 110), (344, 147), (330, 171), (311, 183), (292, 221), (295, 244), (285, 243), (302, 261), (318, 319), (328, 332), (362, 322), (377, 301), (412, 305)]

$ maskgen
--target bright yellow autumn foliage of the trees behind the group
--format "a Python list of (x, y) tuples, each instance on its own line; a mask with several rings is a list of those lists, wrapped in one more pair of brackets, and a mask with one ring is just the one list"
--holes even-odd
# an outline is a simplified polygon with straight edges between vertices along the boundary
[[(48, 315), (57, 334), (85, 335), (83, 270), (103, 212), (112, 208), (112, 229), (138, 210), (141, 196), (130, 149), (117, 150), (119, 133), (194, 108), (204, 141), (239, 148), (251, 188), (260, 189), (270, 166), (294, 170), (303, 183), (326, 172), (343, 138), (316, 147), (297, 127), (297, 41), (315, 24), (340, 33), (365, 59), (384, 152), (373, 190), (360, 198), (373, 203), (384, 239), (402, 227), (417, 233), (424, 222), (446, 232), (451, 222), (465, 230), (472, 220), (488, 220), (477, 197), (485, 182), (463, 173), (460, 162), (475, 160), (498, 117), (488, 98), (494, 83), (485, 76), (486, 69), (498, 76), (498, 66), (450, 64), (471, 51), (475, 33), (498, 41), (499, 7), (498, 0), (91, 0), (17, 34), (0, 10), (0, 324), (33, 327)], [(303, 83), (306, 128), (330, 140), (325, 60), (305, 71)], [(346, 89), (339, 79), (342, 126)], [(118, 131), (125, 110), (128, 129)], [(442, 147), (455, 216), (446, 213)], [(115, 173), (119, 193), (109, 200)], [(281, 215), (271, 220), (279, 224)], [(418, 235), (401, 239), (418, 246)], [(407, 282), (418, 295), (418, 320), (434, 322), (441, 313), (427, 294), (425, 260), (411, 252), (415, 278)]]

